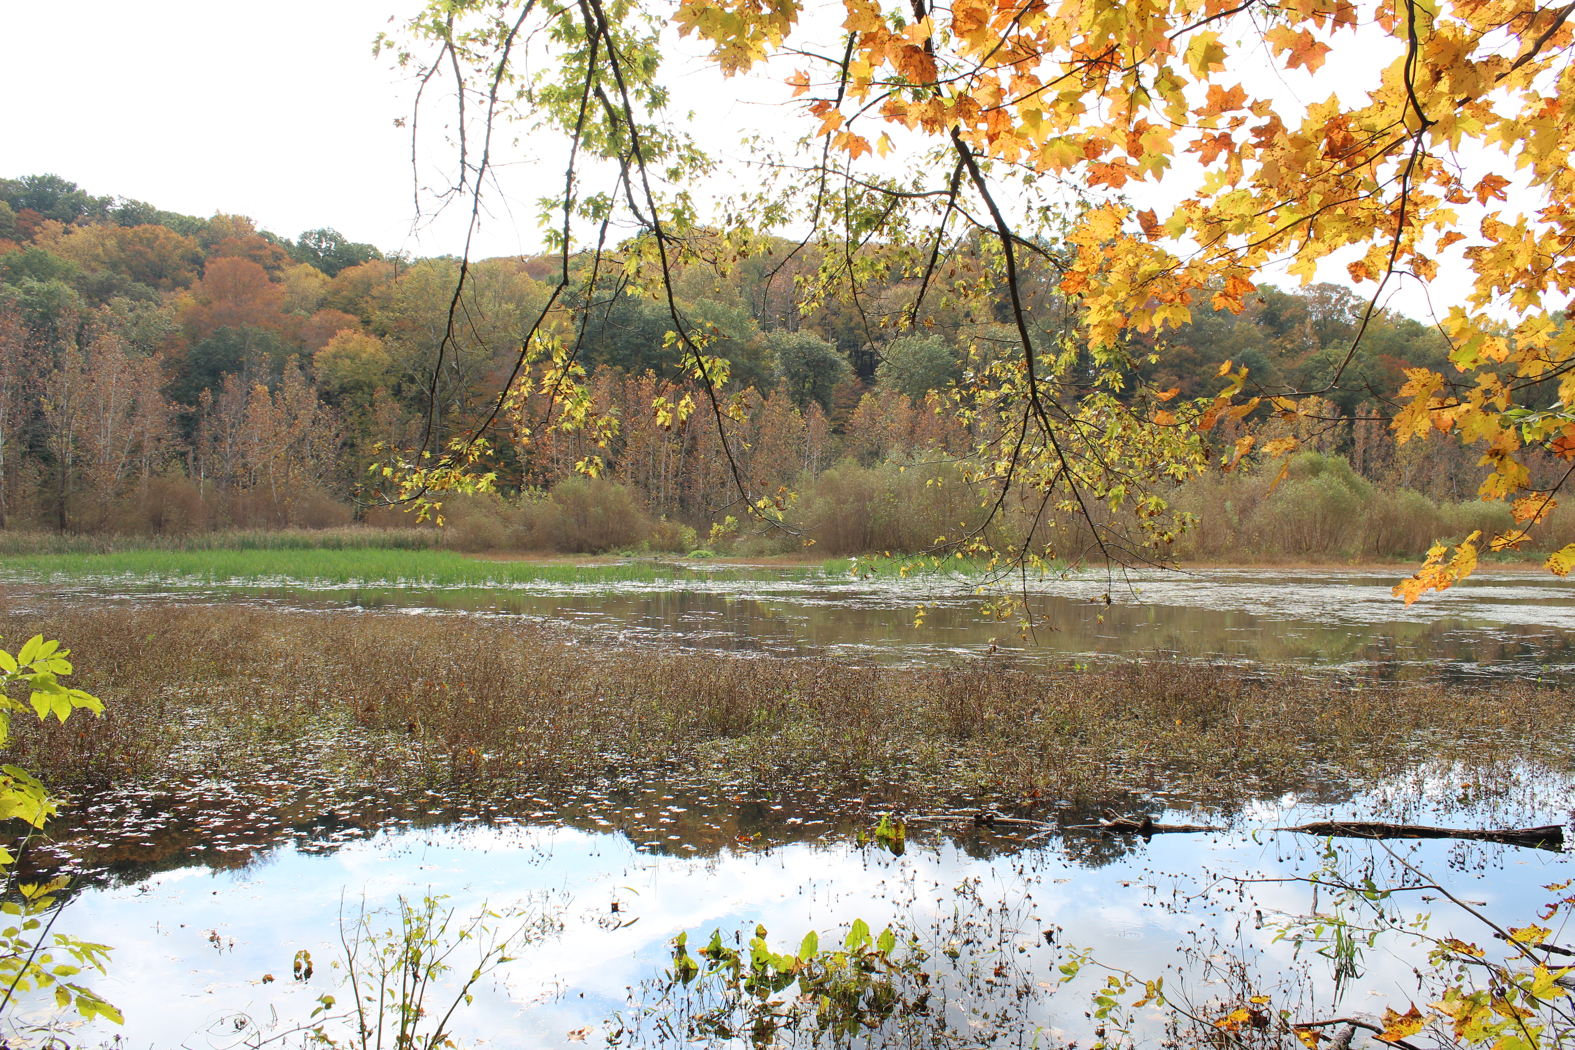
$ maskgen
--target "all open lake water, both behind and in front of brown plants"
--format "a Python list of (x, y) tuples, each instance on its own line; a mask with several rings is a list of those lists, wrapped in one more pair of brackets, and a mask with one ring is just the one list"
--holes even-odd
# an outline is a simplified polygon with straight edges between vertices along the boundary
[[(74, 600), (261, 601), (345, 616), (547, 617), (632, 644), (882, 661), (951, 660), (994, 644), (1044, 661), (1161, 650), (1386, 677), (1562, 680), (1575, 667), (1575, 592), (1564, 581), (1484, 573), (1411, 609), (1389, 597), (1392, 582), (1247, 570), (1054, 581), (1027, 597), (1036, 620), (1027, 644), (1011, 625), (981, 616), (980, 598), (954, 582), (788, 571), (465, 590), (11, 579), (5, 598), (13, 609)], [(920, 604), (925, 625), (914, 627)], [(124, 1011), (126, 1025), (76, 1031), (77, 1045), (117, 1034), (126, 1047), (280, 1037), (324, 992), (343, 1004), (343, 971), (332, 967), (345, 954), (343, 922), (362, 908), (391, 908), (402, 894), (430, 893), (461, 916), (485, 902), (550, 919), (458, 1012), (468, 1045), (603, 1045), (614, 1034), (619, 1045), (654, 1045), (684, 1009), (684, 996), (662, 987), (677, 934), (688, 932), (691, 945), (712, 930), (747, 941), (759, 924), (773, 948), (789, 949), (810, 930), (822, 945), (839, 941), (863, 919), (876, 932), (893, 924), (914, 938), (910, 951), (923, 952), (915, 965), (934, 996), (926, 1023), (954, 1036), (943, 1045), (999, 1037), (1055, 1047), (1090, 1045), (1101, 1026), (1087, 1014), (1107, 971), (1062, 984), (1058, 965), (1074, 949), (1139, 981), (1162, 976), (1169, 995), (1205, 1012), (1235, 993), (1241, 974), (1254, 974), (1277, 996), (1274, 1006), (1299, 1020), (1375, 1015), (1391, 1003), (1403, 1009), (1425, 949), (1386, 943), (1336, 989), (1323, 957), (1276, 941), (1285, 916), (1329, 910), (1328, 891), (1320, 902), (1299, 882), (1325, 864), (1325, 842), (1280, 828), (1326, 817), (1562, 825), (1575, 801), (1570, 787), (1561, 771), (1512, 770), (1484, 784), (1460, 770), (1416, 768), (1397, 770), (1377, 790), (1287, 784), (1222, 809), (1208, 800), (1167, 808), (1159, 786), (1147, 809), (1156, 820), (1216, 830), (1145, 841), (1077, 826), (1096, 819), (1095, 803), (1036, 812), (1044, 831), (918, 814), (895, 855), (860, 842), (873, 815), (857, 798), (806, 803), (677, 779), (610, 779), (502, 803), (365, 786), (320, 801), (287, 779), (243, 784), (220, 771), (88, 798), (41, 856), (77, 875), (57, 930), (115, 946), (110, 974), (93, 985)], [(257, 804), (260, 795), (272, 803), (291, 792), (302, 797), (293, 809)], [(1480, 902), (1473, 907), (1501, 924), (1531, 921), (1553, 896), (1542, 886), (1570, 877), (1567, 855), (1545, 849), (1452, 841), (1388, 849), (1345, 841), (1340, 849), (1347, 871), (1369, 871), (1380, 883), (1408, 877), (1395, 856)], [(1403, 896), (1408, 910), (1436, 913), (1435, 932), (1458, 926), (1466, 940), (1490, 937), (1427, 891)], [(315, 962), (309, 981), (293, 979), (298, 951)], [(457, 960), (463, 970), (468, 957)], [(1153, 1006), (1132, 1019), (1151, 1041), (1164, 1036), (1164, 1023)], [(890, 1026), (869, 1034), (877, 1044), (888, 1034), (902, 1042)]]

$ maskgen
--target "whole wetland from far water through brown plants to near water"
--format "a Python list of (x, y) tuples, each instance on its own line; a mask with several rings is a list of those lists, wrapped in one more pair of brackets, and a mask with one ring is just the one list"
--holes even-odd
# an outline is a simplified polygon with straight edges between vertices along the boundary
[[(1199, 1015), (1246, 1001), (1251, 981), (1293, 1020), (1336, 1004), (1377, 1017), (1414, 993), (1418, 949), (1386, 941), (1336, 981), (1321, 956), (1276, 940), (1328, 911), (1295, 882), (1328, 869), (1326, 842), (1280, 828), (1569, 819), (1562, 650), (1509, 649), (1512, 628), (1566, 630), (1567, 598), (1540, 578), (1490, 575), (1432, 620), (1380, 604), (1372, 578), (1307, 576), (1280, 597), (1262, 575), (1134, 584), (1285, 644), (1293, 620), (1367, 644), (1410, 623), (1416, 658), (1395, 671), (1262, 647), (992, 653), (969, 634), (991, 627), (978, 598), (945, 597), (940, 579), (510, 571), (537, 575), (313, 584), (6, 567), (0, 633), (66, 639), (77, 685), (107, 705), (102, 719), (19, 724), (11, 754), (74, 800), (24, 864), (71, 874), (61, 929), (117, 948), (96, 987), (126, 1025), (71, 1045), (288, 1044), (337, 989), (345, 918), (424, 894), (531, 916), (515, 960), (458, 1015), (469, 1045), (748, 1045), (717, 1020), (715, 989), (663, 976), (674, 937), (743, 946), (759, 926), (781, 951), (810, 930), (841, 943), (855, 921), (890, 924), (906, 960), (901, 1009), (871, 1015), (869, 1045), (1118, 1042), (1091, 1006), (1107, 973), (1164, 976)], [(1145, 606), (1093, 606), (1087, 581), (1071, 587), (1043, 595), (1063, 619), (1041, 638), (1074, 623), (1079, 639), (1136, 634)], [(732, 619), (684, 604), (701, 593)], [(925, 628), (899, 619), (915, 593), (932, 595)], [(663, 601), (677, 608), (658, 616)], [(839, 641), (806, 627), (822, 608), (844, 617)], [(948, 628), (940, 611), (975, 622)], [(761, 641), (772, 617), (791, 644)], [(693, 628), (707, 622), (709, 636)], [(937, 622), (965, 638), (923, 639)], [(1427, 647), (1460, 623), (1498, 649)], [(1213, 830), (1110, 834), (1090, 826), (1104, 812)], [(896, 849), (873, 837), (882, 817), (906, 823)], [(1559, 852), (1482, 842), (1348, 841), (1339, 856), (1395, 883), (1405, 860), (1501, 924), (1534, 918), (1539, 888), (1569, 878)], [(1443, 907), (1406, 893), (1410, 908)], [(317, 973), (296, 981), (301, 951)], [(1077, 959), (1087, 973), (1063, 982)], [(1150, 1044), (1175, 1041), (1177, 1017), (1150, 1003), (1121, 1023)]]

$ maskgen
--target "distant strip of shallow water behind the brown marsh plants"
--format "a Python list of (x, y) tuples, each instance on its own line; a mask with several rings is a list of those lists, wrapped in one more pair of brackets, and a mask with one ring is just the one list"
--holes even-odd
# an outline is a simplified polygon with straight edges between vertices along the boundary
[[(1575, 672), (1575, 582), (1480, 571), (1405, 608), (1395, 573), (1210, 570), (1084, 573), (1032, 584), (1033, 627), (997, 622), (961, 579), (852, 579), (805, 571), (674, 568), (647, 582), (534, 582), (488, 589), (323, 586), (214, 587), (134, 579), (13, 581), (30, 595), (96, 601), (266, 601), (340, 609), (444, 609), (543, 617), (624, 642), (773, 655), (932, 661), (991, 647), (1025, 660), (1175, 653), (1356, 669), (1381, 677)], [(1106, 603), (1109, 597), (1109, 604)], [(925, 616), (915, 625), (923, 606)]]

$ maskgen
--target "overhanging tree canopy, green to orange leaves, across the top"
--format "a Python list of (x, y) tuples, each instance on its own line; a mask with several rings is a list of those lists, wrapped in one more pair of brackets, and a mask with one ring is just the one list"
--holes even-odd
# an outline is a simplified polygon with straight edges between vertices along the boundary
[[(767, 233), (832, 249), (797, 275), (800, 310), (885, 288), (860, 304), (871, 334), (1003, 301), (1014, 346), (975, 353), (953, 398), (999, 423), (969, 479), (997, 496), (1041, 493), (1035, 513), (1084, 518), (1104, 554), (1148, 559), (1186, 524), (1162, 482), (1203, 468), (1203, 431), (1269, 406), (1295, 417), (1304, 395), (1345, 389), (1381, 296), (1446, 269), (1473, 282), (1440, 316), (1449, 365), (1413, 368), (1384, 419), (1395, 441), (1452, 431), (1476, 444), (1482, 497), (1514, 501), (1523, 526), (1553, 507), (1523, 452), (1575, 457), (1575, 342), (1561, 312), (1575, 279), (1572, 6), (843, 0), (838, 44), (821, 49), (825, 27), (806, 30), (795, 0), (465, 0), (433, 3), (380, 46), (469, 102), (479, 123), (457, 189), (480, 192), (504, 118), (561, 132), (564, 183), (543, 224), (565, 260), (595, 252), (669, 307), (671, 340), (717, 412), (712, 373), (726, 365), (677, 309), (673, 275), (737, 264)], [(717, 214), (690, 192), (712, 162), (665, 115), (663, 19), (707, 44), (723, 74), (783, 69), (784, 104), (814, 121)], [(1320, 77), (1347, 50), (1372, 71), (1356, 90)], [(528, 52), (551, 58), (534, 79)], [(1325, 101), (1276, 98), (1262, 85), (1277, 72), (1306, 74), (1303, 94)], [(1180, 203), (1132, 203), (1145, 184)], [(1238, 312), (1266, 268), (1312, 282), (1331, 258), (1372, 298), (1317, 389), (1271, 389), (1232, 362), (1191, 403), (1145, 379), (1200, 302)], [(528, 356), (573, 357), (572, 338), (531, 338)], [(1550, 559), (1555, 571), (1572, 564), (1575, 549)]]

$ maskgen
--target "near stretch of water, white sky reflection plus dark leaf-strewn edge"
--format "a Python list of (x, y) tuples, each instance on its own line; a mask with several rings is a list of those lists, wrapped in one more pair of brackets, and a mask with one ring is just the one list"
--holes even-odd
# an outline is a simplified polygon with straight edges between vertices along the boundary
[[(961, 1045), (991, 1034), (1008, 1045), (1035, 1036), (1038, 1045), (1087, 1045), (1096, 1022), (1085, 1012), (1104, 971), (1062, 984), (1057, 967), (1074, 949), (1140, 979), (1162, 976), (1172, 998), (1199, 1007), (1230, 990), (1233, 962), (1273, 987), (1276, 1007), (1303, 1020), (1336, 1015), (1331, 1009), (1377, 1014), (1391, 1001), (1403, 1007), (1421, 952), (1403, 945), (1369, 952), (1336, 1006), (1325, 960), (1310, 951), (1298, 959), (1288, 943), (1274, 943), (1282, 916), (1329, 910), (1328, 896), (1318, 905), (1307, 885), (1274, 882), (1317, 871), (1325, 844), (1276, 828), (1328, 814), (1474, 826), (1566, 815), (1567, 778), (1528, 775), (1493, 797), (1480, 787), (1444, 776), (1359, 797), (1309, 790), (1235, 814), (1156, 808), (1166, 820), (1219, 830), (1147, 842), (1066, 826), (1082, 819), (1066, 812), (1044, 836), (914, 820), (901, 855), (860, 845), (835, 811), (660, 784), (575, 803), (526, 800), (518, 815), (496, 808), (466, 814), (463, 803), (436, 797), (367, 798), (372, 809), (354, 820), (346, 819), (353, 806), (343, 806), (337, 825), (324, 820), (293, 836), (263, 830), (250, 839), (238, 826), (208, 828), (206, 837), (170, 822), (150, 826), (135, 817), (135, 800), (121, 798), (101, 803), (91, 831), (107, 852), (126, 855), (135, 839), (162, 860), (121, 864), (115, 875), (94, 866), (91, 842), (79, 837), (74, 863), (93, 888), (76, 897), (60, 929), (115, 945), (110, 976), (94, 984), (124, 1009), (120, 1034), (132, 1047), (233, 1047), (287, 1031), (318, 995), (343, 998), (332, 962), (343, 957), (346, 913), (427, 893), (446, 896), (460, 913), (485, 904), (553, 918), (460, 1012), (458, 1031), (476, 1045), (603, 1045), (619, 1030), (624, 1045), (655, 1044), (662, 1019), (682, 1006), (660, 987), (679, 932), (691, 941), (713, 929), (747, 940), (759, 924), (786, 949), (811, 929), (822, 943), (841, 940), (854, 919), (876, 930), (893, 924), (915, 938), (936, 996), (926, 1023), (953, 1030)], [(1421, 803), (1424, 795), (1447, 801)], [(1526, 922), (1550, 896), (1540, 886), (1569, 878), (1566, 855), (1548, 850), (1462, 842), (1394, 849), (1501, 924)], [(1403, 875), (1380, 845), (1347, 842), (1343, 850), (1348, 869), (1370, 864), (1380, 883)], [(1403, 907), (1438, 908), (1425, 893), (1408, 894)], [(1435, 926), (1488, 937), (1458, 911), (1440, 911)], [(310, 981), (291, 979), (298, 951), (315, 960)], [(1148, 1007), (1132, 1023), (1158, 1039), (1164, 1015)], [(94, 1045), (109, 1034), (96, 1025), (77, 1037)]]

